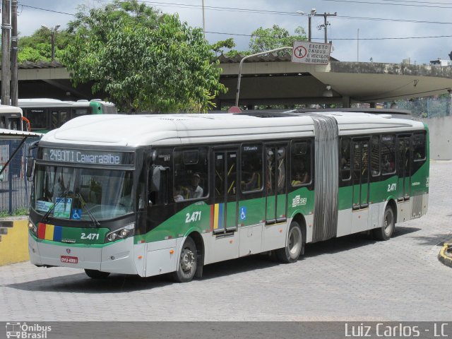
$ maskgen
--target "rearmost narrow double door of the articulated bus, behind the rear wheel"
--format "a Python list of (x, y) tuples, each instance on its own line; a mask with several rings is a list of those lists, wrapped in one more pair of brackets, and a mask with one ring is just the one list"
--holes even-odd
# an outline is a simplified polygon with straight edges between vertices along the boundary
[(397, 138), (397, 174), (398, 174), (398, 201), (410, 199), (411, 177), (410, 177), (410, 137), (399, 136)]

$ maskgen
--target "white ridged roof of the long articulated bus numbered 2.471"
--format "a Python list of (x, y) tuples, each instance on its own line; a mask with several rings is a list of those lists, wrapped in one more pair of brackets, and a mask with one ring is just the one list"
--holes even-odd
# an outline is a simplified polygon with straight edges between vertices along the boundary
[(357, 112), (287, 112), (270, 118), (256, 114), (102, 114), (72, 119), (42, 141), (139, 147), (299, 138), (314, 136), (314, 119), (322, 116), (334, 117), (341, 135), (424, 129), (419, 121)]

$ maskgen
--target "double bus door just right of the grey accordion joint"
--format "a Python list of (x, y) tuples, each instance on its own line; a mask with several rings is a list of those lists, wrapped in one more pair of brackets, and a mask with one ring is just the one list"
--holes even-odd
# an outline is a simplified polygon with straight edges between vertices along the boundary
[(369, 139), (353, 140), (353, 209), (369, 207)]

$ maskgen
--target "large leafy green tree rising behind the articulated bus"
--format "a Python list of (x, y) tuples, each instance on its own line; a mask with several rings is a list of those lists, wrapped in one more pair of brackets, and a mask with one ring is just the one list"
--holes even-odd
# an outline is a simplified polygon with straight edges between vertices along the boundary
[(123, 112), (206, 112), (225, 87), (201, 29), (137, 1), (79, 8), (62, 60), (74, 85), (93, 81)]

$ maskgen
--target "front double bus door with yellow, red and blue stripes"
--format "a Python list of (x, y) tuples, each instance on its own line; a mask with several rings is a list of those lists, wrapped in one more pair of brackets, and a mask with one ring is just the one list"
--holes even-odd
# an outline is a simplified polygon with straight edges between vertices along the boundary
[(237, 151), (216, 150), (213, 232), (237, 230)]

